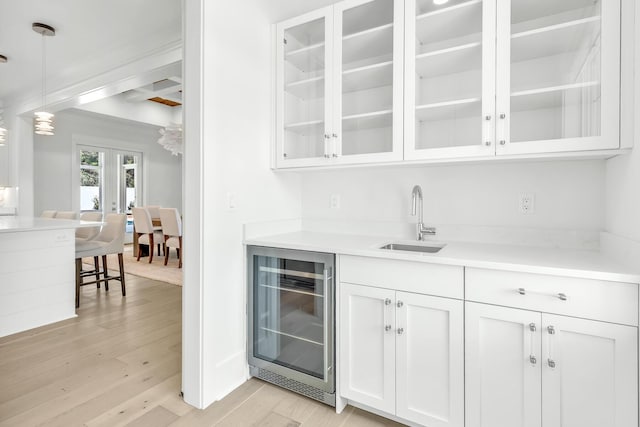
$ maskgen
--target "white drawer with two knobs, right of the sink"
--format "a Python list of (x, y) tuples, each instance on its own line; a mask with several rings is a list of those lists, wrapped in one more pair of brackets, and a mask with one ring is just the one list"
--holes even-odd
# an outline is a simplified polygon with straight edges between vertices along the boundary
[(545, 313), (638, 325), (638, 286), (633, 283), (467, 268), (465, 298)]

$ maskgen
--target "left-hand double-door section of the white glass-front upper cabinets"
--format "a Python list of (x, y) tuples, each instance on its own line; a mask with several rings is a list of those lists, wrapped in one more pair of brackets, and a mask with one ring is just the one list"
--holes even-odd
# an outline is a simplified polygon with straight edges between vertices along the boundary
[(276, 167), (402, 159), (403, 18), (348, 0), (277, 26)]

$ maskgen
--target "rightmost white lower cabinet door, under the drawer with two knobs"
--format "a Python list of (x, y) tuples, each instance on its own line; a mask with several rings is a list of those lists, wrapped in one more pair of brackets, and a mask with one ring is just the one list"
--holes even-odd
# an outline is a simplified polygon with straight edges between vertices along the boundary
[(545, 427), (638, 425), (638, 329), (542, 315)]

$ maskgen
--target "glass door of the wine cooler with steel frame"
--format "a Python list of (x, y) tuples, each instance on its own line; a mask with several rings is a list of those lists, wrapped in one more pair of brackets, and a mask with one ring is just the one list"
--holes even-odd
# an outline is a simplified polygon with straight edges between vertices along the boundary
[(332, 387), (331, 266), (294, 258), (253, 255), (251, 356)]

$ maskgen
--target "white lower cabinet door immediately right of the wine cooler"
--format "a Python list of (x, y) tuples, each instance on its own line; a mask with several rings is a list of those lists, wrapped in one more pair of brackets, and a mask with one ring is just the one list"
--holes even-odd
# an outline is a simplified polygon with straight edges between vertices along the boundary
[(340, 284), (342, 396), (395, 413), (394, 291)]

